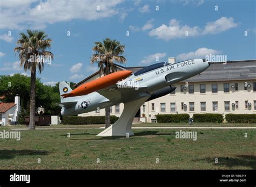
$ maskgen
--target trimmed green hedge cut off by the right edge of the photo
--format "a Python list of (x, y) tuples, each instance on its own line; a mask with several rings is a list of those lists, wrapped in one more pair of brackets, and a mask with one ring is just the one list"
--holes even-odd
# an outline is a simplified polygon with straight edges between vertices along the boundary
[(226, 114), (228, 123), (256, 123), (256, 114)]

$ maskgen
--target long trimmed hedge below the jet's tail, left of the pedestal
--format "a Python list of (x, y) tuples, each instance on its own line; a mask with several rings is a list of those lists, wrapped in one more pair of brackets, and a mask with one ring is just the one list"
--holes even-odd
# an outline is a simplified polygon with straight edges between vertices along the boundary
[[(110, 123), (116, 122), (118, 117), (110, 116)], [(69, 116), (63, 117), (62, 124), (64, 125), (86, 125), (86, 124), (105, 124), (105, 116)]]

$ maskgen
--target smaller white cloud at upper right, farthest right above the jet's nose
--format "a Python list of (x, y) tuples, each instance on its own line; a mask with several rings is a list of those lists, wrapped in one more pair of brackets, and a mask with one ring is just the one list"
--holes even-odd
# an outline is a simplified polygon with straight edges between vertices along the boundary
[(221, 17), (216, 21), (208, 22), (204, 28), (203, 34), (218, 34), (237, 26), (238, 24), (234, 23), (234, 18)]

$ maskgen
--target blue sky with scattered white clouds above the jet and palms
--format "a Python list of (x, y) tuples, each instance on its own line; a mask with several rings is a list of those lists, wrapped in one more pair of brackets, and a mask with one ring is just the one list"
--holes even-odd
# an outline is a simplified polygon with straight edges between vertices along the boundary
[(92, 47), (106, 37), (126, 46), (127, 67), (157, 63), (156, 57), (159, 62), (209, 54), (256, 59), (255, 23), (253, 0), (1, 1), (0, 75), (25, 74), (13, 49), (28, 28), (44, 30), (53, 40), (55, 59), (37, 77), (54, 84), (79, 82), (94, 73)]

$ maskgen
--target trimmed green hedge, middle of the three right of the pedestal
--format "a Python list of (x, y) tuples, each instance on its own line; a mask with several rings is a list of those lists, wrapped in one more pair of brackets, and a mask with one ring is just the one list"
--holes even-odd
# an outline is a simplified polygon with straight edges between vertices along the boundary
[(195, 113), (193, 114), (194, 122), (212, 122), (222, 123), (223, 115), (220, 113)]

